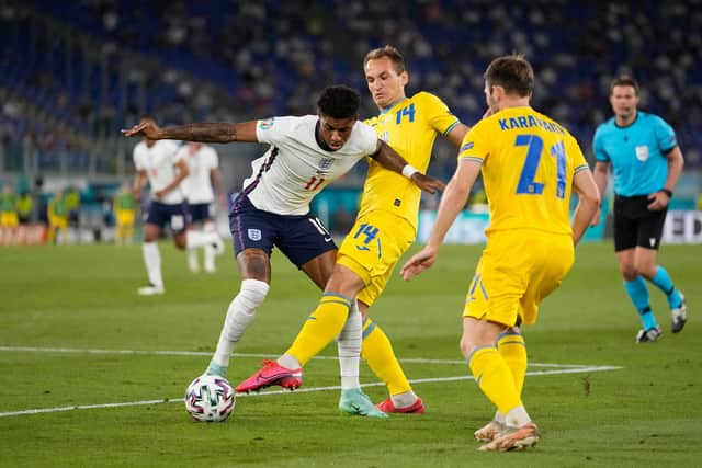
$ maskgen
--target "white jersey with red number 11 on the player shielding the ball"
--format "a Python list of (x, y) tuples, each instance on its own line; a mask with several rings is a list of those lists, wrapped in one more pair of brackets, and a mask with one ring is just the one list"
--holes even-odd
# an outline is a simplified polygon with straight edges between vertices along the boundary
[(324, 150), (315, 137), (318, 122), (316, 115), (257, 122), (257, 139), (271, 147), (251, 163), (253, 173), (244, 181), (253, 206), (278, 215), (305, 215), (316, 194), (377, 149), (375, 130), (356, 122), (343, 147)]

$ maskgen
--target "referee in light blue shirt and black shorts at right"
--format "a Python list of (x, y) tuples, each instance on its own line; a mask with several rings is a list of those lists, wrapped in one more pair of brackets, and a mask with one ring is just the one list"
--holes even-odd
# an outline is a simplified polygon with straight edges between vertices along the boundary
[[(612, 81), (610, 104), (614, 116), (597, 128), (592, 142), (595, 181), (603, 194), (612, 168), (614, 251), (624, 290), (643, 323), (636, 342), (646, 343), (658, 340), (661, 330), (644, 279), (666, 295), (673, 333), (682, 330), (688, 318), (684, 296), (656, 259), (668, 203), (684, 162), (672, 127), (659, 116), (636, 109), (638, 83), (634, 79), (620, 77)], [(593, 224), (599, 218), (598, 213)]]

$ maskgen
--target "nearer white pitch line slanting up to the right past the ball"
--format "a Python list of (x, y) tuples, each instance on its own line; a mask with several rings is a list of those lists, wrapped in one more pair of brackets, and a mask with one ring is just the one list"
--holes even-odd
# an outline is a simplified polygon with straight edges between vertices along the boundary
[[(584, 366), (581, 368), (568, 368), (568, 369), (558, 369), (558, 370), (534, 370), (528, 372), (528, 376), (544, 376), (544, 375), (556, 375), (556, 374), (582, 374), (582, 373), (599, 373), (607, 370), (618, 370), (621, 369), (620, 366)], [(442, 381), (458, 381), (458, 380), (473, 380), (473, 376), (462, 375), (455, 377), (431, 377), (431, 378), (418, 378), (409, 380), (410, 384), (435, 384)], [(361, 387), (381, 387), (385, 384), (376, 381), (371, 384), (362, 384)], [(313, 391), (331, 391), (331, 390), (340, 390), (341, 387), (338, 385), (329, 386), (329, 387), (312, 387), (312, 388), (298, 388), (295, 390), (295, 393), (309, 393)], [(288, 395), (292, 393), (290, 390), (272, 390), (272, 391), (263, 391), (261, 393), (237, 393), (237, 398), (242, 397), (269, 397), (275, 395)], [(31, 410), (20, 410), (20, 411), (8, 411), (0, 413), (0, 418), (8, 416), (21, 416), (21, 415), (30, 415), (30, 414), (43, 414), (43, 413), (58, 413), (64, 411), (75, 411), (75, 410), (94, 410), (94, 409), (103, 409), (103, 408), (122, 408), (122, 407), (138, 407), (146, 404), (160, 404), (160, 403), (182, 403), (182, 398), (168, 398), (160, 400), (143, 400), (143, 401), (126, 401), (122, 403), (103, 403), (103, 404), (78, 404), (73, 407), (58, 407), (58, 408), (37, 408)]]

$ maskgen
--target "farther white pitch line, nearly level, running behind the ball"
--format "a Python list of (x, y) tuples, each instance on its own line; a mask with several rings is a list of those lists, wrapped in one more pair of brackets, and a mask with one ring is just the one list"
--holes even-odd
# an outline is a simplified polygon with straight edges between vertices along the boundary
[[(24, 352), (24, 353), (66, 353), (66, 354), (120, 354), (120, 355), (150, 355), (150, 356), (212, 356), (211, 351), (148, 351), (148, 350), (100, 350), (100, 349), (79, 349), (79, 347), (34, 347), (34, 346), (0, 346), (0, 351), (7, 352)], [(234, 353), (234, 357), (256, 357), (270, 359), (275, 358), (270, 354), (249, 354)], [(338, 356), (315, 356), (313, 359), (338, 361)], [(462, 359), (428, 359), (423, 357), (408, 357), (399, 359), (403, 363), (410, 364), (460, 364), (466, 365)], [(536, 367), (556, 367), (556, 368), (580, 368), (587, 364), (548, 364), (548, 363), (529, 363), (530, 366)]]

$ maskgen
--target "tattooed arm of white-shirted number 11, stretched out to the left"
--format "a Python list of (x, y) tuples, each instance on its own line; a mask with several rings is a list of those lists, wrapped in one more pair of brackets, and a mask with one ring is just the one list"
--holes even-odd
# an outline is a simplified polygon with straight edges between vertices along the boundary
[(141, 121), (132, 128), (123, 129), (122, 134), (126, 137), (146, 137), (152, 140), (172, 139), (199, 142), (258, 141), (256, 138), (254, 121), (244, 122), (241, 124), (189, 124), (161, 128), (152, 118), (141, 118)]

